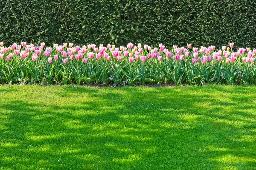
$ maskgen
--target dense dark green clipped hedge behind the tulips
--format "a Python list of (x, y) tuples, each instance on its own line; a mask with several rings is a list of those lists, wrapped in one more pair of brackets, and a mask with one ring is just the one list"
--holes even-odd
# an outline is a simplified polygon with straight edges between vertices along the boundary
[(253, 0), (2, 0), (0, 41), (256, 46)]

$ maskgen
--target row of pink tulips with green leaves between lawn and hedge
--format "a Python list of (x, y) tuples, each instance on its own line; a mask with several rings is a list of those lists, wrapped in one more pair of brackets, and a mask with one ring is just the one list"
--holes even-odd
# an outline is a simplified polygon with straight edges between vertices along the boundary
[(192, 48), (128, 43), (127, 46), (73, 43), (46, 47), (0, 42), (0, 83), (20, 84), (256, 84), (256, 49)]

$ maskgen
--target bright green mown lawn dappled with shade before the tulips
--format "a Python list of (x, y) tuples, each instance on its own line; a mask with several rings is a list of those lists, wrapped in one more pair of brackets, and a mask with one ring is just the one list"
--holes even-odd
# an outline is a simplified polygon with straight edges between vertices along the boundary
[(256, 87), (0, 86), (0, 169), (256, 169)]

